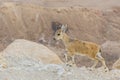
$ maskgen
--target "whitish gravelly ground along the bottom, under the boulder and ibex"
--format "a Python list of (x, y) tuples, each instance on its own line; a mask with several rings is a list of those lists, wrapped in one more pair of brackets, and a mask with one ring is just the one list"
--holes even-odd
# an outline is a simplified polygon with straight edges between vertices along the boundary
[[(102, 69), (89, 71), (87, 68), (66, 68), (56, 64), (40, 64), (36, 66), (11, 67), (1, 69), (1, 80), (120, 80), (120, 70), (103, 72)], [(68, 68), (67, 68), (68, 69)]]

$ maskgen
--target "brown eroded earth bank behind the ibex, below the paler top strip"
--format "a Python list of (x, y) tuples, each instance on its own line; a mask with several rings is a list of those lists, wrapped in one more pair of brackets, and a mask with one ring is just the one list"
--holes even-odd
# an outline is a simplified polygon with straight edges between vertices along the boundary
[[(16, 38), (43, 40), (52, 44), (52, 22), (68, 24), (72, 38), (99, 44), (120, 40), (119, 7), (103, 12), (83, 7), (45, 7), (37, 4), (3, 2), (0, 4), (0, 48)], [(54, 42), (53, 42), (54, 43)]]

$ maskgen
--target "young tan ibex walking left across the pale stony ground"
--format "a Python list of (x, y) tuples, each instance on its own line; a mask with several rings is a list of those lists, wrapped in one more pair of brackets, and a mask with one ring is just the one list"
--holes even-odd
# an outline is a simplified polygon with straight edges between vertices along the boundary
[(68, 61), (68, 56), (72, 58), (72, 63), (75, 63), (74, 56), (75, 55), (84, 55), (88, 56), (90, 59), (94, 60), (95, 63), (92, 68), (95, 68), (98, 64), (98, 61), (102, 62), (102, 65), (105, 69), (107, 69), (105, 60), (101, 56), (100, 46), (92, 43), (86, 42), (76, 39), (71, 39), (65, 32), (67, 30), (67, 26), (62, 25), (61, 29), (58, 29), (55, 32), (54, 39), (62, 40), (65, 48), (67, 50), (67, 55), (65, 56), (66, 62)]

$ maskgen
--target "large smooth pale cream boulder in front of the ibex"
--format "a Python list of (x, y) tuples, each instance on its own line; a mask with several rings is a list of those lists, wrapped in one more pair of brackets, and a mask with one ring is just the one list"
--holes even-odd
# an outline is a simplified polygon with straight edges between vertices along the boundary
[[(44, 64), (61, 64), (60, 58), (47, 47), (35, 42), (18, 39), (1, 52), (8, 66), (38, 61)], [(27, 59), (27, 60), (26, 60)], [(25, 64), (24, 64), (25, 65)]]

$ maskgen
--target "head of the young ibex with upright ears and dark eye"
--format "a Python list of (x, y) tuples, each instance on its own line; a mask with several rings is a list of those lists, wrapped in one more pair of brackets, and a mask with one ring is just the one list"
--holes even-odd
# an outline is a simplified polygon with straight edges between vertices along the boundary
[(67, 31), (67, 24), (62, 25), (61, 29), (55, 32), (54, 40), (60, 40), (63, 38), (63, 34)]

